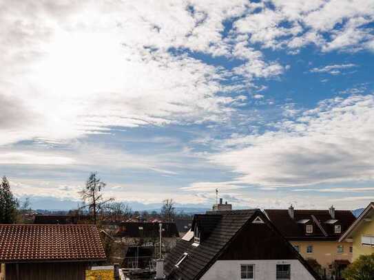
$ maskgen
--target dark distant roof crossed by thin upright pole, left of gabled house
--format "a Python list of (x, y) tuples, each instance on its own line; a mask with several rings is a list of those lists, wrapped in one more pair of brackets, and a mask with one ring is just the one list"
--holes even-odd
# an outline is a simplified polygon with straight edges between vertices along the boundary
[[(176, 223), (163, 222), (163, 237), (179, 237)], [(150, 222), (123, 222), (119, 224), (118, 232), (114, 237), (158, 237), (159, 226), (158, 223)]]

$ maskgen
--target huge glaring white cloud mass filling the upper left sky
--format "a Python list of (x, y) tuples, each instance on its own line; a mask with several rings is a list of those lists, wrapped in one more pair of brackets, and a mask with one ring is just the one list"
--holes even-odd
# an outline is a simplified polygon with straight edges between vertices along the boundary
[[(8, 67), (0, 101), (17, 114), (0, 113), (0, 144), (68, 140), (111, 126), (225, 122), (242, 98), (216, 93), (230, 90), (220, 82), (235, 73), (169, 50), (237, 56), (222, 39), (222, 22), (247, 8), (244, 0), (3, 1), (0, 63)], [(260, 52), (240, 58), (236, 74), (249, 84), (282, 72)]]

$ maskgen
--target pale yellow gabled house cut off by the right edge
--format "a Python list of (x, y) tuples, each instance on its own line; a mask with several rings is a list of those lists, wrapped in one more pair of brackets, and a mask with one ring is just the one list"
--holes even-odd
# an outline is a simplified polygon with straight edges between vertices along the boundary
[(374, 202), (368, 204), (339, 241), (353, 243), (353, 261), (360, 255), (374, 253)]

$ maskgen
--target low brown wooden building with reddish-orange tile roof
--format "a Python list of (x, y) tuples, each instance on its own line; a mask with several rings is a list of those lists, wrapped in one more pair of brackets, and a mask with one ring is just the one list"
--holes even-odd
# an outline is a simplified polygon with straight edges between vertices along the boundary
[(96, 226), (0, 225), (6, 280), (85, 280), (85, 270), (101, 261), (105, 252)]

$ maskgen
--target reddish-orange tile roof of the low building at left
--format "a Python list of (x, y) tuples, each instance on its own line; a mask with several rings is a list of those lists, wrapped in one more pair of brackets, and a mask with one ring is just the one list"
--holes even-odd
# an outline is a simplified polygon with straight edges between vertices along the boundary
[(96, 226), (0, 224), (0, 263), (103, 260)]

